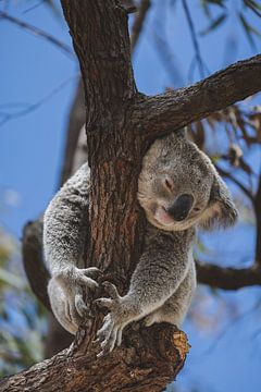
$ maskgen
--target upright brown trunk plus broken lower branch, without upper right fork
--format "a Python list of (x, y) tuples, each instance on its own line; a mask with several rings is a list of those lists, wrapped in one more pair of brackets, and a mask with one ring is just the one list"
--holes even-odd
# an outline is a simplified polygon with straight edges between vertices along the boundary
[[(137, 179), (145, 145), (132, 122), (133, 78), (126, 11), (117, 1), (62, 1), (80, 62), (91, 169), (87, 266), (104, 271), (121, 294), (139, 259), (144, 216)], [(126, 329), (123, 344), (97, 359), (101, 317), (87, 321), (70, 350), (2, 383), (1, 391), (161, 391), (182, 368), (188, 345), (170, 326)], [(174, 344), (176, 340), (177, 347)]]

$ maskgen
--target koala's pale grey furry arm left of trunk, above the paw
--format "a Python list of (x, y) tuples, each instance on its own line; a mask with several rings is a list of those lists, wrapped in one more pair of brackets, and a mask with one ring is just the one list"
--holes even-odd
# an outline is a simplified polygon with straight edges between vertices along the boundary
[(87, 163), (63, 185), (44, 217), (44, 248), (51, 274), (78, 266), (88, 229)]

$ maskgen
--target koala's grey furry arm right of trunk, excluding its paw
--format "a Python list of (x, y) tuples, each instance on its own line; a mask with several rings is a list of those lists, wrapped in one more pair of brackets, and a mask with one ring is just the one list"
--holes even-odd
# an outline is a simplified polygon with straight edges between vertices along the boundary
[(163, 233), (149, 225), (145, 252), (126, 295), (136, 302), (140, 317), (161, 307), (184, 280), (192, 261), (190, 237), (189, 231)]

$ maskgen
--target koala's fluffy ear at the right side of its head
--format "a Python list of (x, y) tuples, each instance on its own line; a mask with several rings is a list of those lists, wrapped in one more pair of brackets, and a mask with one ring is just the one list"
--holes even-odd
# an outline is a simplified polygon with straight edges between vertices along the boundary
[(237, 209), (232, 195), (220, 175), (215, 173), (209, 205), (200, 220), (200, 228), (211, 230), (215, 226), (228, 228), (237, 221)]

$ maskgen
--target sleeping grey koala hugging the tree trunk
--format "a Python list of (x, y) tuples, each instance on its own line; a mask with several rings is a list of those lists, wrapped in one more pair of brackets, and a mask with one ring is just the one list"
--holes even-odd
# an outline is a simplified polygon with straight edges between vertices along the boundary
[[(95, 290), (99, 273), (95, 267), (84, 269), (80, 261), (88, 232), (89, 187), (85, 163), (52, 199), (44, 219), (45, 255), (52, 275), (50, 302), (71, 333), (76, 333), (88, 311), (84, 289)], [(128, 292), (121, 296), (107, 282), (110, 297), (96, 299), (109, 310), (97, 332), (99, 355), (121, 345), (123, 329), (132, 321), (181, 327), (196, 289), (196, 228), (231, 226), (237, 219), (232, 196), (210, 159), (182, 131), (157, 139), (147, 151), (137, 198), (147, 218), (144, 252)]]

